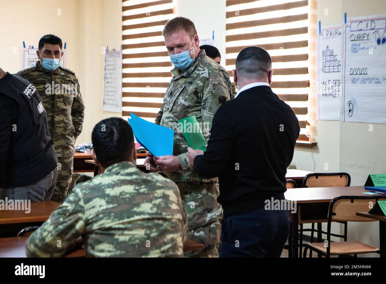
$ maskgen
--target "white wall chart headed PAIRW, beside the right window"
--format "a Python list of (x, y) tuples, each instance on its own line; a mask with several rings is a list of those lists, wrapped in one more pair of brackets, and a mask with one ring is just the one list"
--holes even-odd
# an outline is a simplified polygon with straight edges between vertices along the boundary
[(323, 27), (318, 35), (317, 119), (340, 120), (342, 27)]

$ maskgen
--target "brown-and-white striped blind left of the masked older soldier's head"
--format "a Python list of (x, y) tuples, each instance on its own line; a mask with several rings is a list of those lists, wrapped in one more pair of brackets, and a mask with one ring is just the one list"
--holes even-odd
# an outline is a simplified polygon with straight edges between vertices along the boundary
[(122, 1), (122, 116), (154, 122), (171, 80), (162, 30), (173, 0)]

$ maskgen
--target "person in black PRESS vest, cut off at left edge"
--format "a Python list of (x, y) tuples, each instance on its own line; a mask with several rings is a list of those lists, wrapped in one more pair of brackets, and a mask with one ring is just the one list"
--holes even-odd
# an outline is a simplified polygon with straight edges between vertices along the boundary
[(58, 179), (47, 115), (29, 81), (0, 68), (0, 200), (49, 201)]

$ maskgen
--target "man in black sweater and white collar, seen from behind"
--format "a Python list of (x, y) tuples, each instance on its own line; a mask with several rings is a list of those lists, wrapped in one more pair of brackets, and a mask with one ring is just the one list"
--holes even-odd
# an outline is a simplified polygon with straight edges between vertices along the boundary
[(218, 176), (218, 202), (224, 210), (220, 257), (280, 257), (289, 215), (287, 208), (273, 210), (271, 203), (286, 204), (281, 202), (286, 168), (299, 122), (271, 90), (273, 70), (266, 50), (244, 48), (235, 69), (237, 96), (216, 112), (205, 153), (188, 148), (189, 159), (201, 177)]

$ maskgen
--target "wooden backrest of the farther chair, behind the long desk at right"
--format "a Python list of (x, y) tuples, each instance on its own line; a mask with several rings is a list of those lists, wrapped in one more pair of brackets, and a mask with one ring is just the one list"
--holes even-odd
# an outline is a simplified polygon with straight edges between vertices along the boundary
[(350, 186), (348, 173), (308, 173), (303, 179), (303, 187)]

